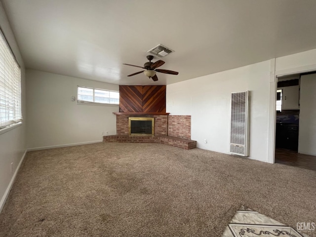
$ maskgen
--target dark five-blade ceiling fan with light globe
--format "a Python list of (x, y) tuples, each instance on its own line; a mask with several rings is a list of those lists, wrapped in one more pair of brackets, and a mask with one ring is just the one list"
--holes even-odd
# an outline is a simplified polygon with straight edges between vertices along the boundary
[(144, 64), (144, 67), (140, 67), (140, 66), (135, 66), (135, 65), (131, 65), (131, 64), (127, 64), (127, 63), (123, 63), (124, 65), (128, 65), (128, 66), (133, 66), (133, 67), (137, 67), (137, 68), (143, 68), (145, 70), (137, 72), (137, 73), (133, 73), (131, 75), (128, 75), (127, 77), (131, 77), (137, 74), (140, 74), (142, 72), (144, 72), (144, 74), (146, 75), (146, 77), (149, 77), (151, 79), (153, 79), (154, 81), (158, 80), (158, 77), (156, 75), (156, 72), (158, 73), (166, 73), (166, 74), (172, 74), (172, 75), (178, 75), (178, 72), (174, 72), (174, 71), (170, 71), (170, 70), (165, 70), (165, 69), (157, 69), (158, 67), (160, 67), (161, 65), (164, 64), (164, 62), (162, 60), (158, 60), (155, 63), (151, 62), (153, 60), (154, 56), (153, 55), (148, 55), (147, 59), (149, 60), (149, 62)]

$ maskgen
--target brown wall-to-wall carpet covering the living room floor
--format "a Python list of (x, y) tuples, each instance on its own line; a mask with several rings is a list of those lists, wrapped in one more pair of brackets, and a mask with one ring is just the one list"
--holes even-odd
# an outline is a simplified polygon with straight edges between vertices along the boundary
[(316, 222), (316, 171), (162, 144), (29, 152), (0, 236), (220, 237), (242, 204), (294, 228)]

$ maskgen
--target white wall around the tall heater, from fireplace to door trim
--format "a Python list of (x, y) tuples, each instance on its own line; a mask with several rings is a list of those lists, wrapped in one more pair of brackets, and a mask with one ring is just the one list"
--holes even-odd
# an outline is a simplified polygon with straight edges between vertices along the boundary
[(231, 93), (245, 90), (250, 91), (249, 157), (267, 162), (270, 61), (169, 84), (166, 111), (192, 116), (191, 138), (198, 148), (229, 153)]

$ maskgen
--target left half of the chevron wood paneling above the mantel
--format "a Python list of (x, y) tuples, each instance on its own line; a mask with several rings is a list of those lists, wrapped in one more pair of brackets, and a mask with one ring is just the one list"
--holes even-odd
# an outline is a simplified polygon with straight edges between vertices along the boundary
[(143, 112), (141, 85), (120, 85), (119, 86), (119, 112)]

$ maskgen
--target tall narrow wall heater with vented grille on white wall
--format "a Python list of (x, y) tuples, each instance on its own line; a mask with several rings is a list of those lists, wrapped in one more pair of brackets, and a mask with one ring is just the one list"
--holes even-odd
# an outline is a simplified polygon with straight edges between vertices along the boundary
[(248, 91), (232, 93), (230, 152), (243, 157), (249, 150)]

